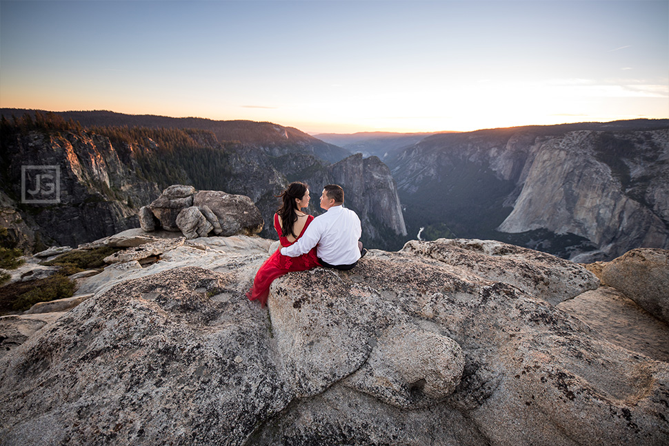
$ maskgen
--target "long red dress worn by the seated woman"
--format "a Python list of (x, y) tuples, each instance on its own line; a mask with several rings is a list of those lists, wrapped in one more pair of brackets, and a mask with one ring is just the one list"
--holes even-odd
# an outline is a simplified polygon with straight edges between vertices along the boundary
[[(307, 223), (302, 228), (302, 232), (299, 233), (297, 239), (304, 234), (304, 231), (313, 219), (314, 216), (307, 216)], [(294, 241), (288, 241), (286, 237), (281, 235), (281, 225), (279, 225), (279, 216), (277, 214), (274, 214), (274, 229), (277, 230), (277, 234), (279, 234), (279, 241), (281, 242), (282, 247), (290, 246), (295, 243)], [(318, 256), (316, 255), (316, 247), (313, 247), (310, 252), (298, 257), (284, 256), (281, 254), (281, 248), (279, 247), (279, 249), (276, 250), (265, 263), (263, 263), (256, 273), (253, 287), (246, 293), (246, 297), (248, 297), (250, 301), (260, 301), (261, 307), (265, 307), (267, 298), (270, 294), (270, 285), (272, 285), (272, 281), (274, 281), (275, 278), (281, 277), (283, 274), (291, 271), (306, 271), (320, 265)]]

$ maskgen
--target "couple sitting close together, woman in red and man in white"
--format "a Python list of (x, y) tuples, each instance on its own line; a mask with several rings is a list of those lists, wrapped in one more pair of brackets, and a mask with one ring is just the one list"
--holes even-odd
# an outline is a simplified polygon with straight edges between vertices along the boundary
[(274, 214), (274, 229), (281, 248), (263, 263), (246, 294), (251, 301), (260, 301), (262, 307), (275, 278), (317, 266), (350, 270), (367, 252), (359, 242), (360, 219), (343, 207), (341, 186), (330, 184), (323, 188), (321, 207), (327, 212), (316, 218), (302, 212), (310, 199), (305, 183), (290, 183), (280, 196), (283, 204)]

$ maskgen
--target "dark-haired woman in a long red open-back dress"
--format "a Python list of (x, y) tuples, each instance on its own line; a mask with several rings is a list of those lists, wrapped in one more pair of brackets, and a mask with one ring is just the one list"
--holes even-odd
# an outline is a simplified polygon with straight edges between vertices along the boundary
[(316, 247), (299, 257), (288, 257), (281, 254), (281, 247), (290, 246), (299, 239), (307, 229), (314, 216), (302, 212), (309, 205), (309, 187), (296, 181), (281, 192), (283, 204), (274, 214), (274, 229), (279, 234), (281, 246), (263, 263), (255, 275), (253, 287), (246, 293), (250, 301), (260, 301), (265, 307), (270, 294), (270, 285), (275, 278), (291, 271), (306, 271), (320, 266), (316, 255)]

